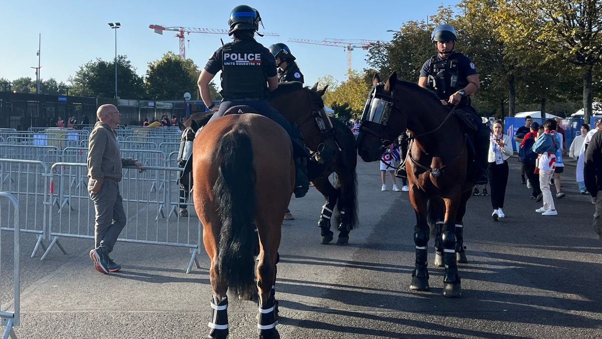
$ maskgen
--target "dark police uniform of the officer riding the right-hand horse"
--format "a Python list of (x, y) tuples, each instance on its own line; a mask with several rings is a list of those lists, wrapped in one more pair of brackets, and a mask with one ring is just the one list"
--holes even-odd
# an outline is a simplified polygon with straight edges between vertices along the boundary
[[(435, 91), (437, 96), (444, 101), (448, 101), (453, 93), (464, 89), (468, 85), (467, 77), (474, 74), (478, 74), (474, 63), (466, 55), (459, 52), (453, 52), (447, 59), (443, 59), (439, 54), (433, 55), (429, 60), (426, 60), (420, 70), (420, 77), (428, 78), (427, 87)], [(458, 109), (471, 113), (474, 121), (477, 122), (478, 129), (473, 135), (475, 161), (480, 170), (485, 171), (487, 168), (489, 130), (471, 106), (470, 96), (461, 98)], [(479, 179), (478, 177), (479, 175), (477, 175), (477, 179)], [(477, 180), (477, 183), (486, 183), (485, 178), (481, 176), (480, 179)]]

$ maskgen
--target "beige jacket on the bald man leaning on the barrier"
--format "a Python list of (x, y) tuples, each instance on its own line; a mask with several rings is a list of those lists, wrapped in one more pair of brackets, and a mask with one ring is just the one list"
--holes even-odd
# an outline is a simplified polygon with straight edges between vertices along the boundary
[(88, 141), (88, 177), (103, 183), (120, 182), (123, 166), (134, 165), (134, 159), (122, 159), (117, 133), (104, 122), (96, 122)]

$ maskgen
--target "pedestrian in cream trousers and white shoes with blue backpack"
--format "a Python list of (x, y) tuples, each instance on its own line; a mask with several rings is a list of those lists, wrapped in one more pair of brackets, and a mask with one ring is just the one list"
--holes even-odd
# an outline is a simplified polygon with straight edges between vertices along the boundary
[(556, 121), (547, 119), (544, 122), (544, 133), (540, 134), (533, 144), (533, 151), (539, 154), (539, 186), (543, 195), (544, 206), (536, 209), (535, 212), (545, 216), (558, 215), (554, 198), (550, 191), (550, 180), (556, 170), (556, 152), (560, 148), (558, 138), (556, 137)]

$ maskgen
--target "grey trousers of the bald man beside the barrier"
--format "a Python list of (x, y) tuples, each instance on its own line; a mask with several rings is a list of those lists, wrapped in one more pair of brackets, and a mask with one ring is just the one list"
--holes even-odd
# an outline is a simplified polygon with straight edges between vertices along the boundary
[(90, 199), (94, 202), (96, 212), (94, 244), (96, 247), (101, 247), (105, 253), (110, 253), (126, 222), (119, 185), (116, 182), (105, 180), (98, 193), (88, 192)]

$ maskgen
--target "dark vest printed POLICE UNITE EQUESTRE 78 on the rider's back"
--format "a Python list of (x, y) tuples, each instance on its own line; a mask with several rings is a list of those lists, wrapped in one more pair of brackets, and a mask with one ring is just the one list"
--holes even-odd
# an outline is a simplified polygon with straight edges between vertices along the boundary
[(226, 43), (222, 51), (222, 97), (225, 101), (267, 98), (267, 76), (255, 40)]

